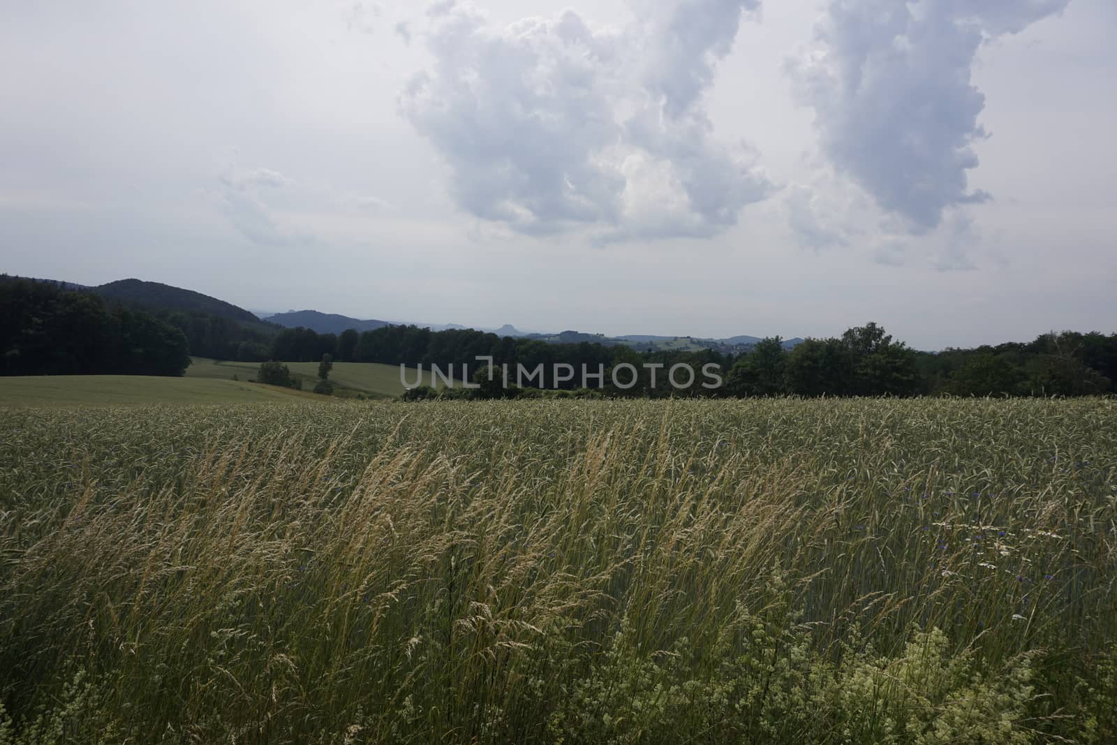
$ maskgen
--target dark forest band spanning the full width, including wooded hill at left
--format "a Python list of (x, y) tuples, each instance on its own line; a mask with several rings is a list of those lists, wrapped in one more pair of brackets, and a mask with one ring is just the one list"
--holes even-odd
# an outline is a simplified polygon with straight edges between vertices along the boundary
[[(179, 375), (188, 354), (218, 360), (378, 362), (438, 365), (461, 380), (474, 376), (478, 357), (499, 370), (543, 365), (532, 385), (574, 390), (581, 375), (554, 380), (556, 364), (594, 374), (605, 372), (603, 394), (612, 395), (1091, 395), (1117, 381), (1117, 334), (1061, 332), (1032, 342), (971, 350), (918, 352), (894, 341), (877, 324), (850, 328), (833, 338), (809, 338), (793, 348), (779, 337), (733, 355), (713, 350), (638, 352), (592, 342), (555, 344), (472, 329), (433, 332), (384, 326), (318, 334), (260, 322), (237, 306), (157, 283), (122, 280), (70, 289), (57, 283), (0, 276), (0, 353), (3, 374), (132, 373)], [(677, 391), (663, 384), (662, 370), (688, 364), (717, 365), (724, 385), (696, 384)], [(632, 388), (610, 384), (611, 371), (632, 365)], [(658, 384), (655, 371), (661, 366)], [(466, 373), (468, 366), (468, 373)], [(596, 382), (594, 381), (594, 386)], [(515, 388), (487, 386), (469, 395), (517, 395)]]

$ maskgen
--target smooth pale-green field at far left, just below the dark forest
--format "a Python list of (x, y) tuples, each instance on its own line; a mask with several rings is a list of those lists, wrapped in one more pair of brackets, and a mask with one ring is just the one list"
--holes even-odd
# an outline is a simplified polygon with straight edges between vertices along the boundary
[(149, 375), (0, 376), (0, 405), (105, 405), (122, 403), (252, 403), (324, 400), (246, 381)]

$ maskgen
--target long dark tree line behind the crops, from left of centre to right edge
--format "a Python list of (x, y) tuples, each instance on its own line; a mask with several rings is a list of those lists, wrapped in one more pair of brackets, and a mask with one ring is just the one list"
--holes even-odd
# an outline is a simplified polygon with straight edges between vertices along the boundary
[[(551, 379), (555, 363), (581, 370), (603, 367), (609, 381), (617, 365), (638, 370), (637, 385), (601, 389), (611, 395), (678, 395), (670, 386), (653, 388), (646, 364), (669, 369), (687, 364), (698, 370), (708, 363), (725, 371), (724, 385), (716, 390), (693, 388), (694, 395), (1094, 395), (1114, 390), (1117, 381), (1117, 334), (1098, 332), (1049, 333), (1030, 343), (1009, 343), (971, 350), (948, 348), (919, 352), (894, 340), (876, 323), (846, 331), (832, 338), (809, 338), (786, 350), (780, 337), (758, 342), (739, 355), (717, 351), (637, 352), (632, 347), (583, 342), (548, 344), (537, 340), (497, 336), (472, 329), (432, 332), (416, 326), (385, 326), (365, 332), (317, 334), (308, 328), (279, 332), (271, 359), (313, 362), (330, 354), (340, 362), (422, 364), (427, 369), (451, 365), (470, 378), (477, 374), (477, 357), (491, 357), (497, 370), (517, 365), (533, 370), (542, 364), (542, 389), (574, 390), (580, 381)], [(485, 372), (484, 380), (493, 375)], [(661, 376), (662, 378), (662, 376)], [(418, 397), (427, 395), (421, 392)], [(460, 393), (472, 398), (522, 395), (513, 388), (486, 385), (480, 391)]]

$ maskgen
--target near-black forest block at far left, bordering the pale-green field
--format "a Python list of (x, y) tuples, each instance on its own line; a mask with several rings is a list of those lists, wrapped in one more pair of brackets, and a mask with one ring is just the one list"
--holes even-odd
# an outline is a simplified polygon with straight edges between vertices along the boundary
[(6, 375), (181, 375), (187, 336), (101, 296), (0, 277), (0, 370)]

